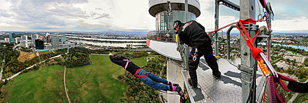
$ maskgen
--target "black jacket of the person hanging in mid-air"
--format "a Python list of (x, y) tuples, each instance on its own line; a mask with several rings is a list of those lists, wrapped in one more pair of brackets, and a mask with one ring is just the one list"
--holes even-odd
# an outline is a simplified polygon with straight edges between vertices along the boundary
[[(127, 59), (126, 57), (121, 56), (121, 57), (120, 57), (120, 60), (116, 60), (116, 59), (114, 59), (114, 57), (112, 57), (112, 56), (110, 55), (109, 58), (110, 58), (110, 60), (111, 60), (112, 62), (114, 62), (114, 63), (116, 63), (116, 64), (122, 66), (123, 68), (125, 68), (125, 65), (126, 65), (127, 61), (123, 61), (123, 59), (126, 60), (126, 59)], [(138, 65), (135, 65), (133, 62), (131, 62), (130, 59), (128, 59), (128, 60), (129, 60), (129, 64), (127, 65), (126, 70), (127, 70), (128, 72), (130, 72), (131, 74), (134, 75), (135, 72), (136, 72), (136, 70), (138, 70), (140, 67), (138, 67)]]

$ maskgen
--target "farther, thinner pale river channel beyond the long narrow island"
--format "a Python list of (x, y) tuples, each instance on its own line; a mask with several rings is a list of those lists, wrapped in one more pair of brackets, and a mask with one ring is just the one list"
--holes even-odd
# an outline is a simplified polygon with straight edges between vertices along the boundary
[(116, 40), (116, 39), (103, 39), (103, 38), (82, 38), (82, 37), (73, 37), (66, 36), (67, 38), (79, 38), (82, 40), (99, 40), (99, 41), (111, 41), (111, 42), (146, 42), (146, 40)]

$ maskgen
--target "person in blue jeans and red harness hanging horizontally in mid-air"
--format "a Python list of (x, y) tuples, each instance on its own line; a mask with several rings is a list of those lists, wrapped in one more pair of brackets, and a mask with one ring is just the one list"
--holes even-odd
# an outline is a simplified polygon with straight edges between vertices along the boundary
[[(138, 77), (144, 84), (149, 85), (150, 87), (153, 87), (157, 90), (177, 91), (182, 97), (183, 91), (179, 84), (171, 83), (164, 78), (159, 78), (150, 72), (146, 72), (145, 70), (138, 67), (138, 65), (135, 65), (135, 63), (133, 63), (130, 59), (127, 59), (127, 57), (113, 55), (110, 53), (109, 58), (113, 63), (122, 66), (125, 70)], [(166, 85), (160, 83), (164, 83)]]

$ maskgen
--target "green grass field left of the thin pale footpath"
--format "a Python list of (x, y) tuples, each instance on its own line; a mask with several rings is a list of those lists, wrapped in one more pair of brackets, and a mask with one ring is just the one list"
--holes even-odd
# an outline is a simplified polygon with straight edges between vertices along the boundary
[[(58, 71), (63, 70), (61, 65), (44, 66), (38, 71), (16, 76), (6, 85), (8, 96), (5, 100), (8, 102), (57, 102), (60, 95), (55, 89), (60, 89), (63, 78), (58, 79), (56, 76)], [(64, 87), (60, 91), (64, 91)], [(67, 102), (65, 99), (62, 101)]]

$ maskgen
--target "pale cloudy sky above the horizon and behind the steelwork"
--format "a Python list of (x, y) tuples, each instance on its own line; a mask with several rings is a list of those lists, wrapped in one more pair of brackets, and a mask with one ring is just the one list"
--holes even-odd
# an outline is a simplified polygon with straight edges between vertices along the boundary
[[(231, 1), (240, 4), (240, 0)], [(268, 1), (274, 11), (273, 31), (308, 32), (308, 1)], [(201, 15), (196, 21), (213, 31), (214, 0), (199, 2)], [(219, 27), (239, 19), (240, 12), (220, 5)], [(153, 30), (149, 0), (0, 0), (0, 31)]]

